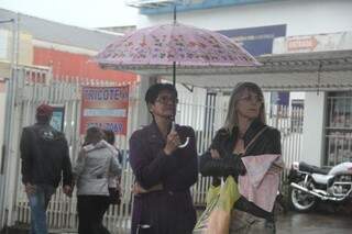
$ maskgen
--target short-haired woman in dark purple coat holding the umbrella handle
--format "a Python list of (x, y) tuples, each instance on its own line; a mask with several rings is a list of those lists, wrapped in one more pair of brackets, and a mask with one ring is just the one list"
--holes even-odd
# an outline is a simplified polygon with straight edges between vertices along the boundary
[[(177, 104), (174, 86), (151, 86), (145, 102), (153, 121), (130, 138), (135, 176), (132, 234), (189, 234), (196, 223), (189, 191), (198, 178), (195, 132), (173, 124)], [(189, 143), (180, 148), (187, 137)]]

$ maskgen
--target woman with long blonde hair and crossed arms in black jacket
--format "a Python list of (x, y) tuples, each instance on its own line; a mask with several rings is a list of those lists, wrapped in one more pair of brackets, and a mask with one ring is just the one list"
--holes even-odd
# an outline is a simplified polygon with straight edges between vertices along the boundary
[[(235, 86), (224, 125), (199, 164), (202, 176), (212, 176), (218, 185), (228, 176), (238, 181), (241, 197), (231, 212), (230, 233), (275, 233), (280, 134), (265, 124), (263, 92), (256, 83)], [(261, 181), (253, 185), (258, 175)]]

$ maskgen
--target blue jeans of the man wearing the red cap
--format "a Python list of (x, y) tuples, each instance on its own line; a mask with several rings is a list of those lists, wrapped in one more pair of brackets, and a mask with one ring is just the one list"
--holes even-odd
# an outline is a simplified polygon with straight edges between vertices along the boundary
[(46, 209), (55, 188), (48, 185), (36, 185), (35, 193), (29, 194), (31, 208), (30, 234), (47, 234)]

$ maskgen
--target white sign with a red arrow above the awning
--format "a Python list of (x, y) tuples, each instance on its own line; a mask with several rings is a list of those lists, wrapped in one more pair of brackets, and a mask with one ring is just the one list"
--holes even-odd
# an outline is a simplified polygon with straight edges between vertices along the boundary
[(273, 54), (342, 49), (352, 49), (351, 32), (275, 38)]

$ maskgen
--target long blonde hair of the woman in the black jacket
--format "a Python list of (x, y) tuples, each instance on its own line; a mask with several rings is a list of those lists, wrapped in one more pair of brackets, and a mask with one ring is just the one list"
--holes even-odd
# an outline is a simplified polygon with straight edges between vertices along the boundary
[[(239, 125), (239, 120), (238, 120), (238, 111), (237, 111), (237, 104), (242, 96), (242, 93), (249, 90), (251, 92), (254, 92), (262, 99), (264, 99), (264, 94), (262, 89), (254, 82), (239, 82), (234, 89), (232, 90), (230, 101), (229, 101), (229, 108), (228, 108), (228, 114), (227, 119), (223, 124), (223, 129), (226, 129), (229, 133), (232, 132), (234, 126)], [(258, 120), (265, 124), (265, 107), (264, 102), (262, 103), (262, 107), (260, 109), (260, 114), (258, 114)]]

